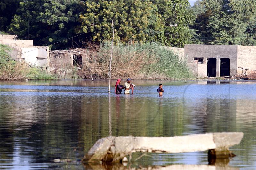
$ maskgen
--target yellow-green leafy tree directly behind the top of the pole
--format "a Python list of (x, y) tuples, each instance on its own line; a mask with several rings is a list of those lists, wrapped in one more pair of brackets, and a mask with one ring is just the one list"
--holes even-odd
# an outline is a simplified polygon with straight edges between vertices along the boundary
[(157, 6), (150, 1), (87, 1), (76, 32), (90, 31), (92, 41), (111, 40), (114, 19), (115, 41), (155, 41), (163, 36)]

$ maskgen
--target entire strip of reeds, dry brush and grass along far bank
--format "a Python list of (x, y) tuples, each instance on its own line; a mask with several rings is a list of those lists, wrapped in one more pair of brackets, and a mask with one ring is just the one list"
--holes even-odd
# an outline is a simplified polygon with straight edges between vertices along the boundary
[[(8, 46), (1, 44), (1, 80), (20, 79), (107, 79), (110, 56), (110, 41), (88, 44), (89, 53), (87, 65), (80, 69), (61, 68), (45, 71), (29, 67), (25, 62), (16, 62), (10, 58)], [(51, 69), (49, 69), (51, 70)], [(123, 45), (116, 43), (113, 49), (111, 78), (132, 79), (185, 79), (192, 78), (186, 63), (180, 60), (178, 54), (168, 50), (158, 43)]]

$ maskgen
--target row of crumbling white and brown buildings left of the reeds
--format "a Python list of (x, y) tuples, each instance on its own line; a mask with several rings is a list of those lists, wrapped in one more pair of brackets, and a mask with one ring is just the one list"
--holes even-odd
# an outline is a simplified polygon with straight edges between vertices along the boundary
[(15, 61), (24, 61), (34, 67), (52, 67), (55, 69), (80, 68), (87, 65), (87, 50), (54, 50), (49, 47), (33, 46), (33, 40), (17, 40), (16, 35), (1, 35), (0, 43), (12, 48), (10, 56)]

